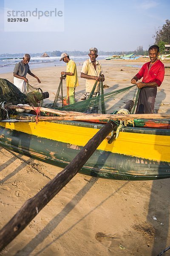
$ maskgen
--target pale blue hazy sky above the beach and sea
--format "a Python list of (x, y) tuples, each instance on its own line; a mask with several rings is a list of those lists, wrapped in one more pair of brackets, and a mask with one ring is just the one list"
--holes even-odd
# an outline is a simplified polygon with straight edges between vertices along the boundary
[[(61, 12), (52, 17), (53, 12), (51, 17), (28, 17), (27, 24), (7, 21), (14, 18), (7, 17), (7, 10), (33, 12), (36, 8), (62, 11), (62, 17)], [(148, 49), (167, 19), (170, 0), (0, 0), (0, 54), (87, 51), (90, 47), (120, 52), (139, 46)]]

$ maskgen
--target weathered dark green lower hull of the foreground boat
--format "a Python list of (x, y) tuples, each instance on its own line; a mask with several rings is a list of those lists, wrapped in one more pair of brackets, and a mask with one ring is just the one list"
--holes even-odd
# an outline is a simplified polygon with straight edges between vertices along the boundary
[[(129, 128), (130, 129), (130, 128)], [(82, 147), (0, 127), (0, 145), (28, 157), (65, 167)], [(80, 170), (116, 180), (155, 180), (170, 177), (170, 163), (96, 150)]]

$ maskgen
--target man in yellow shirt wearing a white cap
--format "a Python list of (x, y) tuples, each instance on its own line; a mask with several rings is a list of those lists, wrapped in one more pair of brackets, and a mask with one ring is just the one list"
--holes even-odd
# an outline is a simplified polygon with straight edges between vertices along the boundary
[(75, 88), (79, 85), (76, 63), (69, 58), (66, 52), (62, 53), (60, 61), (64, 61), (67, 64), (66, 72), (61, 72), (62, 78), (66, 77), (67, 103), (68, 105), (74, 104), (76, 102)]

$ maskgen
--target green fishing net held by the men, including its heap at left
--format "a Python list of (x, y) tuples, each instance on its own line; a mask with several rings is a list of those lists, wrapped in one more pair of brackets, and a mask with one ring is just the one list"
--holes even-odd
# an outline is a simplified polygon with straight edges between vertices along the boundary
[[(83, 100), (81, 102), (76, 102), (71, 105), (63, 106), (63, 92), (62, 92), (62, 79), (60, 80), (59, 87), (54, 99), (54, 103), (52, 105), (52, 108), (63, 110), (63, 111), (77, 111), (82, 113), (113, 113), (116, 110), (119, 110), (119, 108), (122, 108), (123, 103), (126, 103), (128, 99), (125, 99), (126, 102), (122, 102), (123, 96), (127, 96), (127, 92), (133, 88), (136, 85), (132, 85), (129, 87), (125, 87), (119, 90), (114, 90), (109, 93), (104, 94), (103, 90), (103, 83), (99, 83), (99, 87), (101, 90), (101, 94), (99, 96), (94, 97), (94, 91), (96, 89), (97, 81), (94, 84), (94, 87), (88, 96), (86, 100)], [(28, 92), (31, 90), (30, 92)], [(57, 107), (58, 105), (58, 99), (59, 99), (59, 92), (61, 90), (62, 94), (62, 107)], [(42, 90), (40, 88), (32, 87), (28, 84), (28, 94), (23, 94), (20, 92), (20, 90), (12, 84), (10, 81), (6, 79), (0, 79), (0, 102), (11, 102), (13, 105), (17, 104), (25, 104), (28, 103), (29, 105), (34, 105), (35, 107), (40, 106), (37, 102), (40, 102), (43, 99)], [(133, 98), (135, 101), (135, 105), (133, 107), (133, 110), (131, 113), (134, 113), (137, 100), (139, 96), (139, 89), (137, 91), (137, 94), (135, 92)], [(107, 102), (110, 102), (107, 105)], [(107, 105), (107, 108), (106, 108)], [(108, 107), (109, 106), (109, 107)], [(92, 112), (88, 112), (88, 110), (92, 110)], [(93, 112), (95, 110), (95, 112)], [(3, 119), (4, 117), (4, 111), (3, 108), (0, 109), (0, 119)], [(5, 111), (6, 114), (6, 111)], [(45, 114), (46, 115), (46, 114)]]

